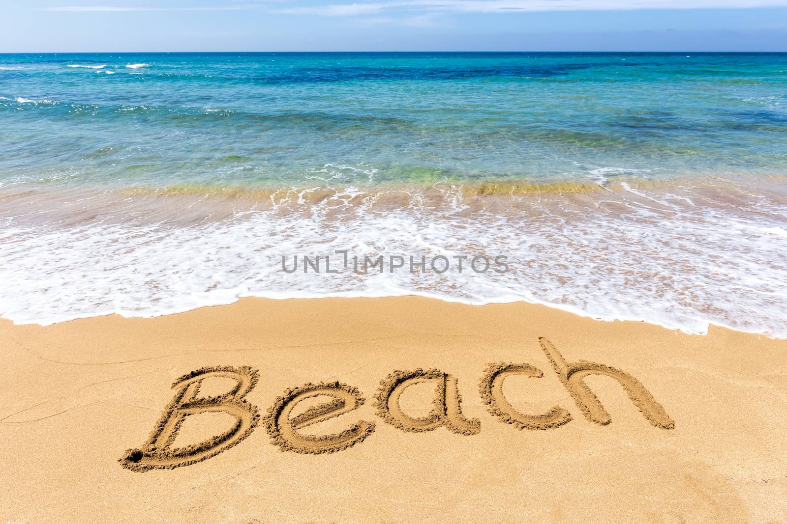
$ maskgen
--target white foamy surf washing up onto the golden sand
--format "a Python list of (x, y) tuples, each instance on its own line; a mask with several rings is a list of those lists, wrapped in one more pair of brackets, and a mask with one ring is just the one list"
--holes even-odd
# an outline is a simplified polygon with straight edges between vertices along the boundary
[[(352, 187), (319, 203), (309, 200), (309, 190), (298, 190), (287, 200), (294, 209), (233, 205), (223, 218), (183, 222), (124, 222), (90, 212), (90, 222), (58, 219), (45, 227), (28, 205), (6, 207), (0, 311), (17, 323), (52, 324), (109, 313), (153, 317), (245, 296), (423, 295), (468, 304), (524, 300), (608, 321), (649, 321), (692, 333), (717, 324), (787, 338), (783, 207), (760, 201), (756, 212), (739, 212), (741, 206), (709, 202), (703, 192), (620, 185), (570, 206), (558, 196), (539, 196), (512, 213), (471, 210), (462, 192), (441, 190), (446, 205), (439, 212), (416, 193), (408, 196), (411, 204), (382, 211), (382, 196)], [(104, 196), (77, 205), (94, 203), (117, 211)], [(63, 212), (47, 205), (50, 214)], [(195, 198), (179, 209), (202, 212), (205, 202)], [(282, 257), (291, 267), (294, 255), (331, 255), (335, 268), (341, 259), (335, 250), (405, 260), (505, 255), (511, 271), (282, 270)]]

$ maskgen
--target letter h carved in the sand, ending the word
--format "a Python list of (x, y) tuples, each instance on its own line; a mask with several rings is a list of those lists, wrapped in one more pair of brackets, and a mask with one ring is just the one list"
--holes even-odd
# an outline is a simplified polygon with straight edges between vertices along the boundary
[(602, 426), (611, 422), (609, 413), (585, 383), (586, 376), (606, 375), (611, 376), (623, 386), (626, 394), (629, 395), (634, 405), (645, 415), (649, 423), (664, 429), (674, 429), (675, 423), (667, 415), (667, 412), (656, 402), (656, 399), (645, 389), (645, 386), (633, 376), (619, 369), (595, 362), (567, 362), (549, 340), (541, 337), (538, 339), (538, 343), (541, 344), (541, 349), (549, 357), (552, 368), (555, 369), (560, 382), (563, 383), (577, 407), (582, 410), (585, 418), (590, 422)]

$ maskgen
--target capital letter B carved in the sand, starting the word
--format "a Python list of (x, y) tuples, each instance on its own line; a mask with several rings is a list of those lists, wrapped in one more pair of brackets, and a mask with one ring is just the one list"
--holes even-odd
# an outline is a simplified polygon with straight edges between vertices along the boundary
[[(209, 377), (234, 379), (237, 384), (217, 397), (198, 398), (202, 381)], [(238, 444), (251, 434), (260, 420), (257, 407), (244, 399), (256, 383), (257, 371), (249, 367), (201, 368), (180, 377), (172, 384), (173, 388), (177, 388), (175, 397), (164, 408), (147, 442), (141, 449), (127, 449), (119, 459), (120, 463), (132, 471), (172, 469), (208, 459)], [(227, 413), (235, 417), (235, 425), (229, 431), (198, 444), (172, 448), (183, 420), (189, 415), (206, 412)]]

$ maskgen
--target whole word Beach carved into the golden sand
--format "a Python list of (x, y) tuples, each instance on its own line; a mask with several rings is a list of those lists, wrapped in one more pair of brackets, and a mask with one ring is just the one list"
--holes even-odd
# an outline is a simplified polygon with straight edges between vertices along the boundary
[[(592, 423), (606, 425), (611, 422), (609, 413), (585, 383), (590, 375), (606, 375), (616, 379), (629, 398), (653, 426), (673, 429), (674, 422), (663, 407), (656, 402), (645, 387), (633, 376), (617, 368), (595, 362), (567, 362), (547, 339), (539, 339), (552, 368), (566, 387), (578, 409)], [(519, 429), (549, 430), (571, 421), (571, 414), (560, 406), (544, 413), (519, 412), (505, 398), (503, 381), (512, 375), (541, 378), (544, 373), (529, 364), (501, 362), (487, 366), (479, 390), (489, 412), (504, 423)], [(199, 397), (205, 379), (224, 377), (235, 380), (235, 387), (216, 397)], [(434, 384), (433, 408), (428, 416), (413, 418), (399, 405), (401, 394), (416, 383)], [(172, 401), (164, 408), (150, 436), (139, 449), (128, 449), (119, 459), (123, 467), (132, 471), (172, 469), (194, 464), (223, 452), (241, 442), (254, 431), (260, 422), (257, 407), (246, 401), (246, 394), (257, 384), (257, 371), (249, 367), (201, 368), (176, 380)], [(317, 397), (331, 400), (314, 405), (294, 415), (302, 401)], [(377, 414), (386, 423), (403, 431), (433, 431), (445, 427), (456, 434), (474, 435), (481, 431), (481, 421), (467, 419), (462, 414), (462, 398), (456, 377), (437, 369), (394, 371), (380, 383), (375, 394)], [(296, 453), (334, 453), (363, 442), (375, 431), (375, 423), (361, 420), (335, 434), (312, 435), (301, 430), (344, 415), (364, 404), (364, 398), (355, 387), (339, 382), (308, 383), (286, 390), (268, 409), (265, 424), (274, 445), (283, 451)], [(187, 416), (197, 413), (222, 412), (235, 418), (230, 430), (204, 442), (175, 448), (173, 443)]]

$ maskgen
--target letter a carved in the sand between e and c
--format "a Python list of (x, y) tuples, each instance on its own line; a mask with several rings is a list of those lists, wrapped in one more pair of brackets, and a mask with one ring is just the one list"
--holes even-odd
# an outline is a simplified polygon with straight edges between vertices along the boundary
[[(401, 410), (399, 399), (408, 387), (423, 382), (432, 382), (435, 385), (434, 407), (428, 416), (413, 418)], [(382, 380), (376, 396), (377, 414), (401, 430), (432, 431), (445, 426), (457, 434), (474, 435), (481, 431), (481, 422), (478, 419), (467, 420), (462, 415), (462, 398), (456, 377), (437, 369), (394, 371)]]

